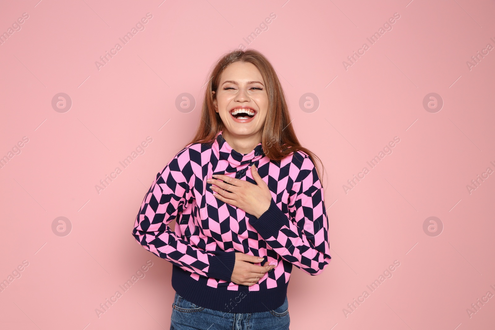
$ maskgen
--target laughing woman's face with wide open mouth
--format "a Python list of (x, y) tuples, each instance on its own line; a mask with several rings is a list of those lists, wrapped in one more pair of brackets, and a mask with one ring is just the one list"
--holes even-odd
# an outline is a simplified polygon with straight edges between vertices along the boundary
[(250, 136), (261, 132), (268, 113), (268, 94), (254, 64), (234, 62), (227, 66), (214, 94), (215, 111), (229, 135)]

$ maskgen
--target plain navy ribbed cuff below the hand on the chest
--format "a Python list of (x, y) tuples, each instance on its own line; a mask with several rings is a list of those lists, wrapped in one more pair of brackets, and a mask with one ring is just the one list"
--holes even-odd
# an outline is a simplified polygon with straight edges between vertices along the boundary
[(271, 236), (276, 237), (280, 229), (285, 225), (289, 227), (289, 218), (277, 206), (275, 201), (271, 200), (270, 207), (258, 219), (249, 216), (249, 224), (263, 237), (268, 239)]

